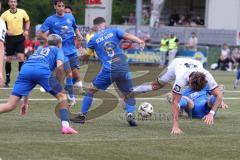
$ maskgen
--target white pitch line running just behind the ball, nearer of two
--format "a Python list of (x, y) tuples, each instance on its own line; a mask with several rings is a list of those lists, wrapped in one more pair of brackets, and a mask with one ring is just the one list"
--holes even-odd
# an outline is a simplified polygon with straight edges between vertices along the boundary
[[(77, 100), (82, 100), (83, 98), (77, 98)], [(137, 100), (160, 100), (160, 101), (166, 101), (166, 98), (136, 98)], [(225, 100), (239, 100), (240, 97), (225, 97), (223, 98)], [(0, 99), (0, 101), (7, 101), (8, 99)], [(30, 98), (30, 101), (57, 101), (55, 98)], [(94, 98), (94, 100), (102, 100), (99, 98)], [(115, 100), (115, 98), (104, 98), (104, 100)], [(121, 98), (118, 98), (118, 100), (121, 100)]]

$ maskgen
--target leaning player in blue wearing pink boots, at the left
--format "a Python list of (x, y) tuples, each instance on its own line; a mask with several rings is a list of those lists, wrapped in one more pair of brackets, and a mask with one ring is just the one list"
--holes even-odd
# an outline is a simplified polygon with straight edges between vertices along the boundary
[[(51, 34), (47, 41), (48, 46), (38, 49), (22, 66), (8, 102), (0, 104), (0, 113), (14, 110), (20, 99), (24, 97), (21, 114), (25, 115), (28, 109), (28, 95), (39, 84), (59, 101), (62, 134), (76, 134), (78, 132), (69, 126), (67, 96), (59, 83), (64, 73), (64, 55), (60, 49), (62, 39), (57, 34)], [(57, 79), (52, 75), (55, 68), (57, 68)]]

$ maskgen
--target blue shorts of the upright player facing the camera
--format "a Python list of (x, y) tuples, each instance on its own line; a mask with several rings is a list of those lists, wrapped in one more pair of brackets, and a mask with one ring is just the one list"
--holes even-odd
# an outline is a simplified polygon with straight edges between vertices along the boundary
[(76, 69), (80, 68), (80, 63), (78, 60), (78, 53), (65, 55), (64, 56), (64, 70), (75, 69), (75, 68)]

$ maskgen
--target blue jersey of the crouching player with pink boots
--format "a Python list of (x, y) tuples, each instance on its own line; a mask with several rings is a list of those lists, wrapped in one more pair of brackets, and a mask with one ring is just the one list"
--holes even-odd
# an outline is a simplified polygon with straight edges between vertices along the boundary
[(47, 46), (37, 49), (25, 64), (48, 67), (53, 71), (57, 67), (57, 60), (64, 61), (63, 51), (56, 46)]

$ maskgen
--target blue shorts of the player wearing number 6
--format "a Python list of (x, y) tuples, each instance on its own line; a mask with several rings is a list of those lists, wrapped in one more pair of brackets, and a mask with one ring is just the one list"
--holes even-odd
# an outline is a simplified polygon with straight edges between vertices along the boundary
[(106, 90), (113, 82), (123, 94), (128, 94), (133, 90), (129, 72), (111, 72), (103, 68), (92, 81), (93, 85), (101, 90)]

